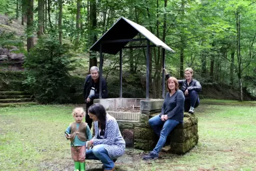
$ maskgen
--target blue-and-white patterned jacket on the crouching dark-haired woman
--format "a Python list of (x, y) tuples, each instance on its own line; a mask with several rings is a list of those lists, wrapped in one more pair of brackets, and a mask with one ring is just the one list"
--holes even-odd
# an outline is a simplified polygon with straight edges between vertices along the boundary
[(98, 121), (94, 122), (95, 136), (92, 138), (93, 145), (106, 144), (105, 149), (110, 158), (120, 157), (125, 151), (125, 141), (119, 130), (116, 119), (109, 114), (106, 115), (106, 129), (104, 139), (97, 139), (99, 134)]

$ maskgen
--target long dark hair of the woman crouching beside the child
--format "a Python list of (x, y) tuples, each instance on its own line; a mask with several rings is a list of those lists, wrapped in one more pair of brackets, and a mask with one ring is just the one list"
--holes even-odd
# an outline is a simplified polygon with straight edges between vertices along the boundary
[(106, 110), (103, 105), (100, 104), (93, 104), (89, 107), (88, 112), (96, 115), (97, 118), (99, 119), (99, 124), (100, 126), (100, 136), (103, 136), (105, 134), (105, 129), (106, 129)]

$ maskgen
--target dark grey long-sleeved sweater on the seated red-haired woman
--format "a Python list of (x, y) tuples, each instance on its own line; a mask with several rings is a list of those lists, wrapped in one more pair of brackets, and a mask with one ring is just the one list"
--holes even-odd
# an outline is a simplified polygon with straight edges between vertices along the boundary
[(181, 90), (177, 90), (171, 97), (167, 92), (162, 106), (161, 115), (167, 115), (169, 119), (183, 122), (185, 97)]

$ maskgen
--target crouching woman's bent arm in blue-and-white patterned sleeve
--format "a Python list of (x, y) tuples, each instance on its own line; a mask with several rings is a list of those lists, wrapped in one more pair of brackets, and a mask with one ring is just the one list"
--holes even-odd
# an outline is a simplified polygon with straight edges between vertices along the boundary
[(106, 123), (106, 138), (105, 139), (92, 139), (93, 145), (96, 146), (98, 144), (108, 144), (112, 145), (116, 139), (116, 130), (118, 129), (117, 122), (113, 120), (109, 120)]

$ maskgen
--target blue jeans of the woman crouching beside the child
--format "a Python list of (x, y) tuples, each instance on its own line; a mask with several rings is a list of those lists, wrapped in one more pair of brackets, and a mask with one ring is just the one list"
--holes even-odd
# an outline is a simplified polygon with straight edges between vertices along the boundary
[(86, 151), (86, 160), (100, 160), (105, 170), (111, 170), (115, 164), (113, 160), (108, 156), (107, 150), (104, 148), (105, 144), (99, 144), (92, 149)]

